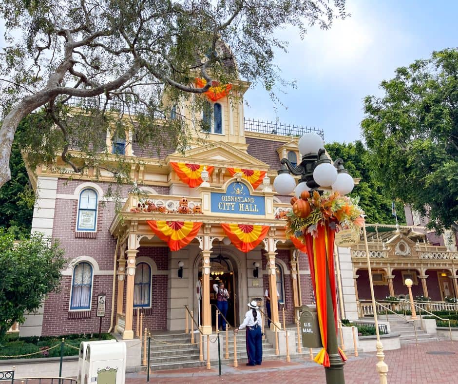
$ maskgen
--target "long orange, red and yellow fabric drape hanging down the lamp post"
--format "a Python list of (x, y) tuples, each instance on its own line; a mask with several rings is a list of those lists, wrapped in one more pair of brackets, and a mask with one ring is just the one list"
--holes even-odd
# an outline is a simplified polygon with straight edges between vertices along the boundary
[[(329, 366), (329, 355), (327, 353), (327, 299), (326, 299), (326, 272), (329, 274), (331, 288), (332, 307), (336, 321), (337, 333), (337, 295), (336, 279), (334, 276), (334, 236), (335, 230), (329, 227), (328, 222), (317, 224), (316, 235), (305, 234), (305, 245), (307, 248), (308, 263), (310, 265), (310, 276), (312, 278), (313, 292), (317, 304), (318, 323), (321, 332), (322, 350), (315, 357), (315, 362)], [(327, 269), (326, 269), (327, 263)], [(344, 352), (339, 348), (342, 360), (346, 360)]]

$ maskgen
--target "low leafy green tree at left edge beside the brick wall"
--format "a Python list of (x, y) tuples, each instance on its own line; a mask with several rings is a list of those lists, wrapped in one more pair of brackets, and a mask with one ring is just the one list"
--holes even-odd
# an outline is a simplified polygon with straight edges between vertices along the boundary
[(11, 233), (0, 230), (0, 340), (24, 313), (40, 307), (44, 297), (56, 291), (66, 260), (57, 241), (40, 234), (15, 244)]

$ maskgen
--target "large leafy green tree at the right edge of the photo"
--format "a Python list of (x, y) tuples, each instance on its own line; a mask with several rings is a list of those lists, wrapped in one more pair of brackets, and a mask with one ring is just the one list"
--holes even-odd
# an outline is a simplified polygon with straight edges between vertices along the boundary
[(377, 178), (438, 231), (458, 230), (458, 49), (433, 52), (367, 96), (363, 135)]

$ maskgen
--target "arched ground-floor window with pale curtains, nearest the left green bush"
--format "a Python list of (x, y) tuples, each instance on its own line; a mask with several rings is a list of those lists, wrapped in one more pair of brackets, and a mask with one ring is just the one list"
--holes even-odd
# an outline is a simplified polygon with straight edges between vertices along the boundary
[(92, 267), (89, 263), (79, 263), (73, 270), (70, 309), (90, 309), (91, 291)]

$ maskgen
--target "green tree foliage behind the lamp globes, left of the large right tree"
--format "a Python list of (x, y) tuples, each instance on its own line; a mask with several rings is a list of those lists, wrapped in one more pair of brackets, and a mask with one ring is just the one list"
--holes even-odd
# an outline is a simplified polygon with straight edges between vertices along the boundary
[[(354, 143), (328, 143), (326, 151), (333, 160), (341, 158), (344, 167), (354, 178), (361, 179), (355, 186), (350, 196), (360, 197), (360, 206), (367, 215), (369, 223), (396, 224), (392, 215), (391, 204), (394, 195), (386, 192), (382, 182), (375, 177), (370, 154), (359, 140)], [(396, 202), (398, 222), (405, 222), (404, 209), (400, 202)]]

